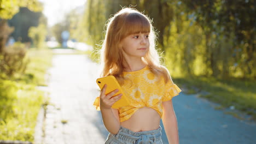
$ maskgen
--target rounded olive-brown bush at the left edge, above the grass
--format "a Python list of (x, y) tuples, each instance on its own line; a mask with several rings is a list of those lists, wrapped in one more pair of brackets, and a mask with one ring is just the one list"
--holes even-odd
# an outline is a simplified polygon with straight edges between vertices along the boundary
[(15, 43), (14, 45), (5, 47), (0, 56), (0, 70), (2, 79), (13, 79), (15, 75), (25, 73), (28, 59), (26, 59), (26, 47), (24, 44)]

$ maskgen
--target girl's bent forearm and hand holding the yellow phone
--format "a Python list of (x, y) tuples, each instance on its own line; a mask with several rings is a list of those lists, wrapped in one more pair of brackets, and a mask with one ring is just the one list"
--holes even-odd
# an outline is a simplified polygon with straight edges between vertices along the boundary
[(103, 119), (103, 123), (109, 133), (117, 134), (120, 129), (120, 121), (118, 115), (118, 109), (112, 109), (112, 105), (121, 99), (121, 95), (119, 94), (115, 97), (112, 97), (115, 93), (117, 93), (117, 89), (107, 95), (105, 95), (107, 85), (102, 88), (100, 95), (100, 107), (101, 107), (101, 115)]

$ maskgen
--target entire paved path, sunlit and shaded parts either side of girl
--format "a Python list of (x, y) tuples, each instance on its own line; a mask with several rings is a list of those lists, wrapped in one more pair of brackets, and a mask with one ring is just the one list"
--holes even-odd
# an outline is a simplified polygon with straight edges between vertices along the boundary
[[(108, 132), (92, 106), (99, 93), (98, 66), (83, 55), (56, 55), (49, 73), (52, 105), (46, 111), (43, 143), (104, 143)], [(173, 106), (181, 144), (256, 142), (255, 124), (214, 110), (207, 100), (181, 93), (173, 98)], [(164, 130), (162, 139), (167, 143)]]

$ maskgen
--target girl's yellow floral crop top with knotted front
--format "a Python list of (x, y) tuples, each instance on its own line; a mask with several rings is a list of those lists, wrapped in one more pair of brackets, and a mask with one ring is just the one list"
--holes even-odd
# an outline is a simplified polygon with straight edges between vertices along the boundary
[[(171, 80), (165, 83), (164, 77), (157, 79), (147, 66), (141, 70), (124, 72), (124, 77), (129, 79), (124, 81), (121, 88), (130, 105), (119, 107), (120, 122), (126, 121), (144, 106), (156, 110), (162, 117), (162, 101), (171, 100), (181, 92)], [(99, 97), (96, 98), (94, 105), (100, 110)]]

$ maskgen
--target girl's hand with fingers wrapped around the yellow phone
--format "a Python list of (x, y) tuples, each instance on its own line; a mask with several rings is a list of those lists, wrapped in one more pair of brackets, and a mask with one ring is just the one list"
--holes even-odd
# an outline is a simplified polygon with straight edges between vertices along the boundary
[(123, 94), (120, 93), (120, 94), (116, 95), (115, 97), (113, 97), (113, 95), (119, 91), (118, 89), (115, 89), (114, 91), (105, 95), (106, 88), (107, 88), (107, 85), (105, 84), (104, 87), (102, 88), (101, 95), (100, 95), (100, 99), (101, 99), (100, 100), (100, 107), (101, 107), (101, 109), (111, 109), (112, 105), (116, 101), (121, 99), (121, 96), (123, 95)]

